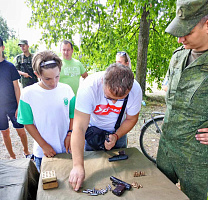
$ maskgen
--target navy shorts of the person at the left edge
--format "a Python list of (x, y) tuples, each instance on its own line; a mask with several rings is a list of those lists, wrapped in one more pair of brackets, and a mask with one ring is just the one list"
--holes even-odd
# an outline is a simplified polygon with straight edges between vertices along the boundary
[(17, 104), (12, 106), (0, 106), (0, 130), (4, 131), (9, 128), (9, 119), (11, 120), (14, 128), (24, 128), (24, 125), (17, 122), (15, 112)]

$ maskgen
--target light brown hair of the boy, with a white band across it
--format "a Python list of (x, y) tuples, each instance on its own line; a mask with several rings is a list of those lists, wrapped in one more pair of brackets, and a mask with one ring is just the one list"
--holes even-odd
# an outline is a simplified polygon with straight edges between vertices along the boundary
[(43, 69), (58, 67), (61, 71), (61, 66), (61, 59), (54, 52), (49, 50), (37, 53), (32, 59), (32, 68), (37, 72), (38, 75), (42, 74)]

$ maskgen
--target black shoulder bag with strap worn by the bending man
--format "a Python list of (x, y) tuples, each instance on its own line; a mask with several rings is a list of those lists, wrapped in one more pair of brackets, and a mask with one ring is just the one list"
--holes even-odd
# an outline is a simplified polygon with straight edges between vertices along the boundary
[[(114, 127), (115, 132), (120, 127), (121, 119), (123, 117), (123, 113), (126, 108), (128, 97), (129, 97), (129, 95), (127, 95), (126, 98), (124, 99), (124, 103), (123, 103), (121, 112), (118, 116), (118, 119), (117, 119), (115, 127)], [(91, 148), (94, 149), (95, 151), (105, 150), (104, 142), (105, 142), (106, 136), (108, 136), (109, 134), (113, 134), (113, 133), (110, 133), (106, 130), (100, 129), (96, 126), (90, 126), (90, 127), (88, 127), (88, 129), (85, 133), (85, 140), (91, 146)]]

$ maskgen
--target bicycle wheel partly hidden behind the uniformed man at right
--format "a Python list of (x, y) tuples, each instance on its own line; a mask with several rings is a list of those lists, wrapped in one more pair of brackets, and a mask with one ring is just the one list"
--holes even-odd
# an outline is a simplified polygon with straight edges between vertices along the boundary
[[(141, 150), (143, 154), (154, 163), (156, 163), (163, 118), (163, 115), (155, 116), (154, 120), (148, 120), (141, 128), (141, 134), (139, 138)], [(160, 130), (157, 129), (155, 123)]]

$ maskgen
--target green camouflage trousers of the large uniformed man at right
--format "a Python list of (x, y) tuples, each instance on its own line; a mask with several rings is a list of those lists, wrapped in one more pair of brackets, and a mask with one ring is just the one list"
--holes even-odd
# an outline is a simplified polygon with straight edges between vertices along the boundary
[[(178, 153), (171, 148), (178, 148)], [(160, 141), (157, 154), (157, 167), (174, 184), (180, 180), (181, 190), (190, 200), (207, 200), (208, 163), (188, 162), (180, 155), (180, 146), (170, 146)], [(176, 151), (176, 152), (177, 152)]]

